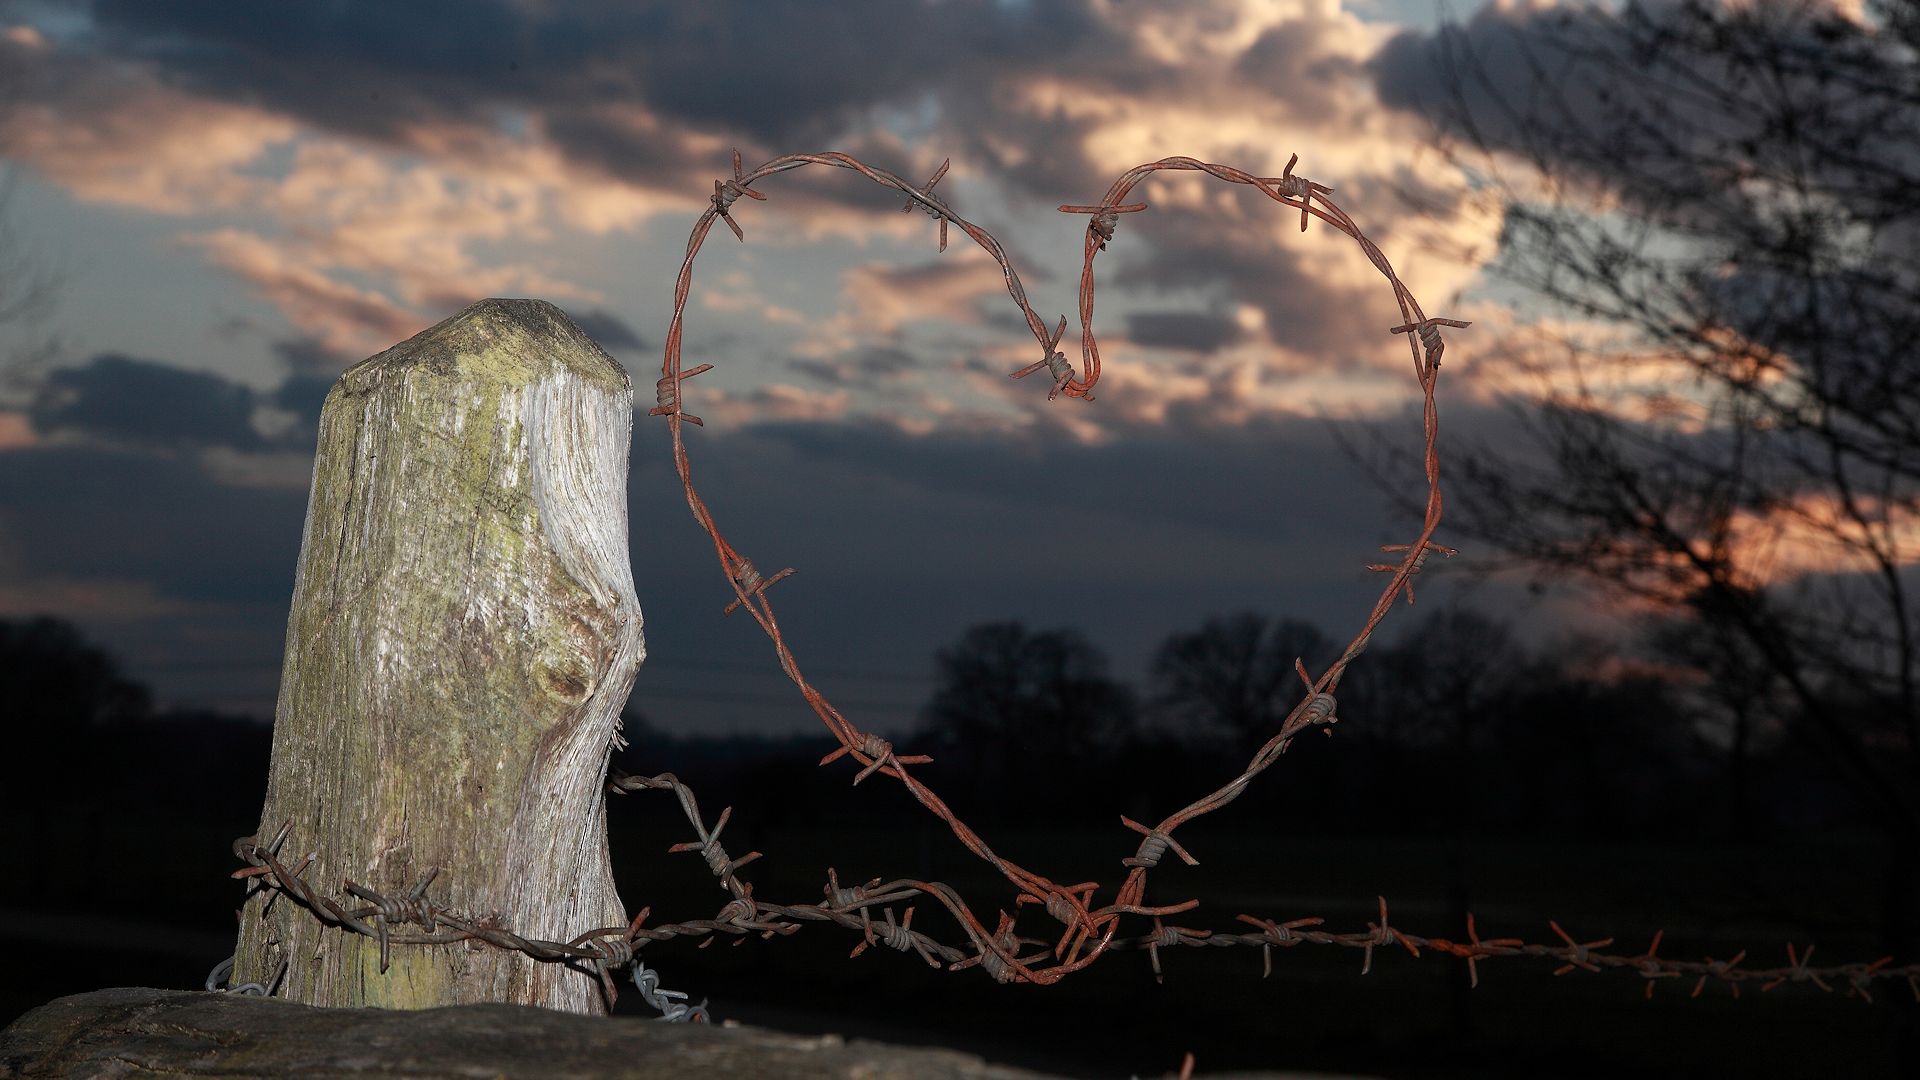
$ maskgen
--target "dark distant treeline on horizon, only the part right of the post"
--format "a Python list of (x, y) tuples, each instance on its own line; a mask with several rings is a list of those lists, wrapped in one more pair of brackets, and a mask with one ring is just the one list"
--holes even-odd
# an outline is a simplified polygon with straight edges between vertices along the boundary
[[(1217, 617), (1171, 634), (1137, 690), (1077, 630), (987, 623), (935, 655), (937, 686), (899, 746), (933, 755), (918, 774), (968, 821), (1160, 817), (1231, 780), (1279, 730), (1304, 692), (1296, 657), (1319, 673), (1336, 653), (1308, 623)], [(1530, 648), (1501, 621), (1440, 609), (1350, 667), (1332, 736), (1296, 740), (1221, 819), (1670, 838), (1864, 821), (1784, 724), (1734, 724), (1713, 690), (1684, 665), (1592, 642)], [(849, 769), (814, 767), (833, 748), (824, 734), (685, 738), (626, 721), (616, 765), (697, 780), (735, 821), (870, 813), (841, 796)]]

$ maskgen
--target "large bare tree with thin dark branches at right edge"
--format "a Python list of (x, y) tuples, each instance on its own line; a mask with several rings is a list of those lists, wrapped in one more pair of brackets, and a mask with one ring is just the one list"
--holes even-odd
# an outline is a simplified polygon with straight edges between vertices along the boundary
[[(1488, 8), (1379, 65), (1503, 202), (1496, 271), (1590, 327), (1457, 525), (1697, 630), (1920, 869), (1920, 21), (1908, 0)], [(1438, 96), (1417, 102), (1425, 79)], [(1596, 344), (1596, 334), (1611, 336)], [(1659, 640), (1659, 638), (1651, 638)], [(1718, 657), (1718, 659), (1715, 659)], [(1764, 671), (1757, 676), (1753, 667)], [(1730, 701), (1732, 703), (1732, 701)]]

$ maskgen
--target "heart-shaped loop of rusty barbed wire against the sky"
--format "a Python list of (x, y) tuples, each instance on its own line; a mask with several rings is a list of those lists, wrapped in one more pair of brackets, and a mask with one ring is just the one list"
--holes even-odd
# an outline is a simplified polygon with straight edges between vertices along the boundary
[[(1302, 730), (1308, 730), (1311, 726), (1321, 726), (1331, 730), (1331, 724), (1336, 721), (1334, 692), (1338, 688), (1342, 673), (1354, 661), (1354, 657), (1357, 657), (1365, 650), (1373, 630), (1379, 626), (1379, 623), (1386, 617), (1386, 611), (1392, 607), (1392, 600), (1404, 588), (1409, 590), (1411, 596), (1409, 578), (1425, 563), (1427, 552), (1434, 548), (1432, 536), (1440, 525), (1440, 511), (1442, 511), (1440, 480), (1438, 480), (1440, 459), (1436, 450), (1438, 405), (1434, 400), (1434, 388), (1440, 373), (1440, 357), (1444, 352), (1440, 329), (1465, 327), (1467, 323), (1457, 319), (1428, 317), (1421, 307), (1419, 300), (1413, 298), (1413, 292), (1394, 273), (1392, 265), (1388, 263), (1380, 248), (1375, 246), (1373, 240), (1369, 240), (1359, 231), (1354, 219), (1348, 217), (1348, 213), (1329, 198), (1332, 188), (1327, 184), (1313, 183), (1302, 175), (1296, 175), (1294, 173), (1296, 163), (1298, 163), (1298, 154), (1286, 161), (1286, 169), (1279, 177), (1258, 177), (1235, 169), (1231, 165), (1215, 165), (1194, 158), (1164, 158), (1160, 161), (1137, 165), (1135, 169), (1123, 173), (1108, 188), (1106, 196), (1094, 206), (1071, 206), (1071, 204), (1062, 206), (1060, 209), (1066, 213), (1091, 215), (1087, 225), (1081, 281), (1079, 281), (1081, 365), (1083, 365), (1081, 371), (1075, 371), (1073, 365), (1066, 359), (1066, 356), (1058, 350), (1060, 340), (1066, 334), (1066, 317), (1062, 315), (1060, 323), (1052, 331), (1048, 331), (1046, 323), (1027, 302), (1027, 292), (1020, 281), (1020, 273), (1008, 261), (1000, 242), (995, 240), (993, 234), (987, 233), (985, 229), (954, 213), (954, 209), (941, 196), (933, 194), (933, 186), (947, 175), (948, 163), (943, 163), (941, 169), (935, 171), (933, 179), (927, 181), (924, 186), (916, 186), (895, 173), (872, 167), (852, 156), (837, 152), (787, 154), (781, 158), (774, 158), (753, 171), (745, 171), (741, 165), (739, 152), (735, 150), (732, 179), (714, 181), (714, 196), (710, 200), (710, 206), (699, 217), (699, 221), (695, 221), (693, 231), (687, 236), (687, 252), (674, 279), (674, 309), (666, 331), (666, 342), (660, 361), (660, 380), (657, 386), (659, 407), (651, 409), (651, 415), (666, 417), (672, 440), (674, 469), (682, 480), (687, 507), (693, 511), (695, 523), (712, 540), (714, 555), (718, 557), (720, 569), (733, 590), (733, 601), (728, 603), (726, 611), (732, 613), (733, 609), (745, 609), (753, 615), (753, 619), (760, 625), (762, 632), (766, 632), (768, 640), (774, 644), (774, 653), (778, 657), (781, 671), (787, 675), (789, 680), (793, 680), (793, 684), (801, 690), (801, 698), (820, 717), (828, 732), (831, 732), (833, 738), (839, 742), (839, 749), (822, 759), (822, 765), (828, 765), (839, 757), (851, 757), (858, 765), (854, 782), (860, 782), (876, 773), (899, 780), (902, 786), (906, 786), (906, 790), (914, 796), (916, 801), (920, 801), (927, 811), (931, 811), (947, 824), (947, 828), (954, 834), (954, 838), (960, 840), (960, 844), (968, 851), (989, 863), (996, 872), (1000, 872), (1002, 878), (1006, 878), (1014, 886), (1016, 907), (1035, 903), (1062, 922), (1064, 930), (1060, 940), (1056, 942), (1054, 963), (1050, 967), (1031, 969), (1027, 965), (1018, 963), (1006, 951), (989, 949), (995, 951), (996, 969), (1010, 970), (1018, 978), (1043, 984), (1056, 982), (1058, 978), (1071, 974), (1073, 970), (1079, 970), (1085, 965), (1092, 963), (1106, 949), (1108, 942), (1112, 942), (1121, 913), (1173, 911), (1167, 907), (1148, 909), (1144, 905), (1146, 876), (1148, 871), (1152, 871), (1158, 865), (1162, 853), (1173, 847), (1188, 863), (1194, 861), (1185, 847), (1177, 847), (1173, 844), (1171, 838), (1173, 830), (1238, 798), (1238, 794), (1246, 790), (1252, 778), (1263, 773), (1267, 767), (1271, 767), (1273, 761), (1286, 751), (1292, 738), (1298, 736)], [(939, 221), (941, 250), (945, 250), (948, 225), (958, 227), (975, 244), (979, 244), (1000, 267), (1000, 273), (1006, 279), (1008, 296), (1020, 307), (1027, 323), (1027, 329), (1033, 332), (1035, 342), (1039, 342), (1041, 346), (1041, 359), (1020, 371), (1014, 371), (1012, 377), (1023, 379), (1044, 367), (1052, 377), (1052, 390), (1048, 392), (1048, 398), (1058, 394), (1068, 394), (1071, 398), (1087, 398), (1087, 400), (1092, 398), (1092, 388), (1100, 380), (1100, 350), (1098, 350), (1098, 340), (1092, 332), (1094, 256), (1098, 252), (1104, 252), (1108, 242), (1114, 240), (1119, 215), (1140, 213), (1148, 209), (1148, 204), (1144, 202), (1125, 202), (1125, 200), (1127, 194), (1139, 183), (1142, 183), (1146, 177), (1158, 171), (1198, 171), (1227, 183), (1254, 186), (1256, 190), (1260, 190), (1261, 194), (1283, 206), (1298, 208), (1302, 229), (1308, 227), (1309, 219), (1317, 217), (1325, 221), (1327, 225), (1338, 229), (1340, 233), (1346, 233), (1350, 238), (1356, 240), (1356, 244), (1359, 244), (1361, 252), (1375, 265), (1375, 269), (1380, 271), (1380, 275), (1386, 279), (1386, 282), (1394, 292), (1394, 302), (1400, 307), (1400, 325), (1390, 327), (1390, 332), (1407, 334), (1407, 348), (1411, 350), (1413, 356), (1415, 379), (1419, 380), (1423, 394), (1421, 423), (1425, 436), (1427, 513), (1421, 532), (1411, 544), (1400, 546), (1400, 550), (1404, 550), (1404, 557), (1398, 565), (1382, 567), (1390, 569), (1392, 577), (1382, 588), (1373, 609), (1369, 611), (1363, 626), (1359, 628), (1359, 632), (1356, 632), (1354, 640), (1348, 644), (1342, 655), (1334, 659), (1334, 663), (1325, 673), (1321, 673), (1317, 680), (1309, 678), (1304, 667), (1300, 669), (1302, 680), (1306, 684), (1306, 694), (1302, 696), (1300, 703), (1288, 713), (1281, 730), (1252, 757), (1252, 761), (1238, 776), (1235, 776), (1221, 788), (1210, 792), (1208, 796), (1202, 796), (1200, 799), (1175, 811), (1173, 815), (1162, 819), (1158, 824), (1144, 826), (1140, 822), (1123, 819), (1123, 824), (1127, 828), (1140, 832), (1142, 840), (1135, 849), (1135, 853), (1123, 861), (1127, 876), (1119, 884), (1114, 903), (1106, 907), (1094, 909), (1094, 896), (1100, 890), (1098, 882), (1081, 882), (1073, 886), (1064, 886), (1037, 871), (1031, 871), (998, 855), (987, 844), (985, 838), (981, 838), (973, 828), (970, 828), (960, 819), (960, 815), (956, 815), (952, 807), (947, 805), (945, 799), (941, 799), (927, 784), (924, 784), (918, 776), (914, 776), (914, 773), (908, 767), (924, 759), (900, 757), (893, 753), (891, 744), (887, 744), (874, 732), (862, 730), (858, 724), (849, 721), (837, 707), (833, 707), (831, 701), (828, 701), (828, 698), (818, 688), (814, 688), (804, 678), (799, 667), (799, 659), (795, 657), (793, 650), (787, 646), (785, 636), (780, 630), (780, 623), (774, 615), (774, 605), (768, 600), (766, 592), (774, 580), (791, 575), (793, 567), (783, 569), (780, 575), (774, 575), (772, 578), (762, 578), (753, 569), (753, 563), (726, 540), (726, 536), (720, 530), (720, 525), (714, 521), (712, 511), (707, 507), (707, 502), (701, 498), (699, 490), (693, 484), (693, 467), (687, 455), (682, 421), (691, 421), (695, 425), (699, 425), (699, 421), (697, 417), (691, 417), (684, 411), (682, 382), (712, 367), (708, 363), (691, 369), (682, 367), (685, 306), (693, 286), (693, 261), (699, 256), (701, 246), (705, 244), (714, 219), (724, 219), (735, 236), (745, 238), (745, 233), (741, 231), (739, 223), (735, 223), (733, 217), (730, 215), (730, 209), (739, 194), (749, 194), (760, 202), (766, 202), (764, 192), (751, 190), (751, 184), (766, 177), (772, 177), (776, 173), (785, 173), (804, 165), (829, 165), (839, 169), (851, 169), (874, 183), (902, 192), (908, 200), (906, 209), (920, 206), (927, 215)], [(1446, 552), (1452, 553), (1452, 550)], [(973, 919), (972, 915), (966, 917), (966, 922), (970, 934), (975, 934), (979, 930), (979, 920)]]

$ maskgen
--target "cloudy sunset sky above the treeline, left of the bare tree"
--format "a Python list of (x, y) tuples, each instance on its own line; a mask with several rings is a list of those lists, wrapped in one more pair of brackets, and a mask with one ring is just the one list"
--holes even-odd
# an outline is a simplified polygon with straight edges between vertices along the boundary
[[(271, 715), (334, 377), (474, 300), (538, 296), (651, 405), (733, 148), (912, 179), (950, 160), (939, 192), (1048, 321), (1075, 309), (1087, 227), (1056, 206), (1165, 156), (1271, 177), (1298, 154), (1428, 313), (1475, 321), (1448, 338), (1442, 430), (1498, 432), (1540, 313), (1490, 281), (1498, 208), (1430, 148), (1423, 102), (1440, 19), (1548, 8), (0, 0), (0, 275), (48, 286), (0, 319), (0, 617), (79, 623), (167, 703)], [(933, 650), (989, 619), (1077, 626), (1129, 678), (1208, 615), (1342, 640), (1365, 619), (1365, 563), (1417, 523), (1344, 444), (1417, 446), (1419, 417), (1352, 240), (1212, 179), (1144, 183), (1152, 209), (1098, 263), (1096, 400), (1048, 400), (1006, 379), (1035, 346), (964, 234), (937, 252), (933, 221), (847, 171), (758, 188), (745, 242), (720, 229), (695, 265), (685, 361), (716, 371), (687, 386), (689, 452), (735, 546), (799, 571), (781, 623), (858, 723), (910, 724)], [(630, 490), (649, 721), (814, 724), (756, 628), (720, 617), (643, 407)], [(1478, 563), (1428, 575), (1423, 603), (1586, 626)]]

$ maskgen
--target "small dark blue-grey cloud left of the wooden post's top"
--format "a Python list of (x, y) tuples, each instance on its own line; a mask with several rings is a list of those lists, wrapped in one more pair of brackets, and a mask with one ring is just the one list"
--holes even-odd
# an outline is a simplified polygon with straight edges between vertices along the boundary
[(252, 425), (253, 405), (248, 386), (219, 375), (109, 354), (50, 373), (27, 415), (40, 434), (259, 450), (265, 442)]

